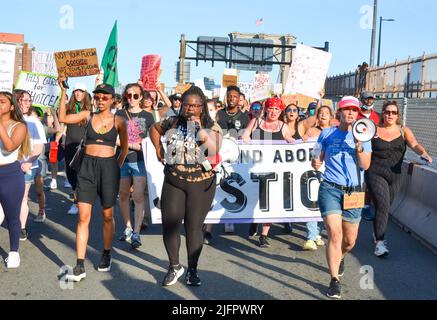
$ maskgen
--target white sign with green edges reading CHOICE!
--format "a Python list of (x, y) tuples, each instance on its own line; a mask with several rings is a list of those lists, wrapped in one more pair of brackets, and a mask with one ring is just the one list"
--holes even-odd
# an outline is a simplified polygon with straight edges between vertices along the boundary
[(21, 71), (16, 88), (28, 91), (32, 105), (40, 108), (57, 107), (61, 97), (58, 80), (51, 75)]

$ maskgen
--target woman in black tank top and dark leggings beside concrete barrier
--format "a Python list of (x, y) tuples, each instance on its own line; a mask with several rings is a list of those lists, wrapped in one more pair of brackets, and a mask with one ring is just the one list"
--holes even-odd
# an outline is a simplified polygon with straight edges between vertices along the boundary
[(365, 173), (367, 187), (376, 207), (373, 229), (374, 253), (378, 257), (384, 257), (389, 253), (384, 234), (390, 206), (400, 188), (402, 161), (407, 145), (416, 154), (432, 162), (432, 158), (417, 142), (413, 132), (400, 126), (396, 101), (388, 101), (382, 107), (382, 121), (372, 139), (371, 165)]

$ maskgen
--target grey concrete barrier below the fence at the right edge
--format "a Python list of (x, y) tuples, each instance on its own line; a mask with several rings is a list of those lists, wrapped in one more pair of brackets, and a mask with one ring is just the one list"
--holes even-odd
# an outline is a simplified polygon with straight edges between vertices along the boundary
[(437, 254), (437, 170), (404, 161), (391, 218)]

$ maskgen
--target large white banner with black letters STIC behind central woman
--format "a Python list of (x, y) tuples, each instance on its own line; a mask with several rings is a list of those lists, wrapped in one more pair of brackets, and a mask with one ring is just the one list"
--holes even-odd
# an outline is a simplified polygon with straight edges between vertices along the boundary
[[(314, 142), (273, 145), (262, 142), (240, 144), (238, 163), (224, 164), (227, 173), (217, 175), (213, 208), (205, 223), (322, 220), (317, 202), (320, 172), (314, 171), (310, 160)], [(148, 138), (143, 141), (143, 152), (152, 222), (161, 223), (158, 207), (164, 167)]]

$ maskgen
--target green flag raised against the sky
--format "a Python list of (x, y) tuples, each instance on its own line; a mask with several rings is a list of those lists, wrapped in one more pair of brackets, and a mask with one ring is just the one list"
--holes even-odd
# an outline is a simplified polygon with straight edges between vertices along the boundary
[(114, 88), (118, 86), (117, 71), (117, 21), (114, 23), (108, 43), (106, 44), (105, 53), (103, 54), (100, 70), (104, 71), (103, 83), (110, 84)]

